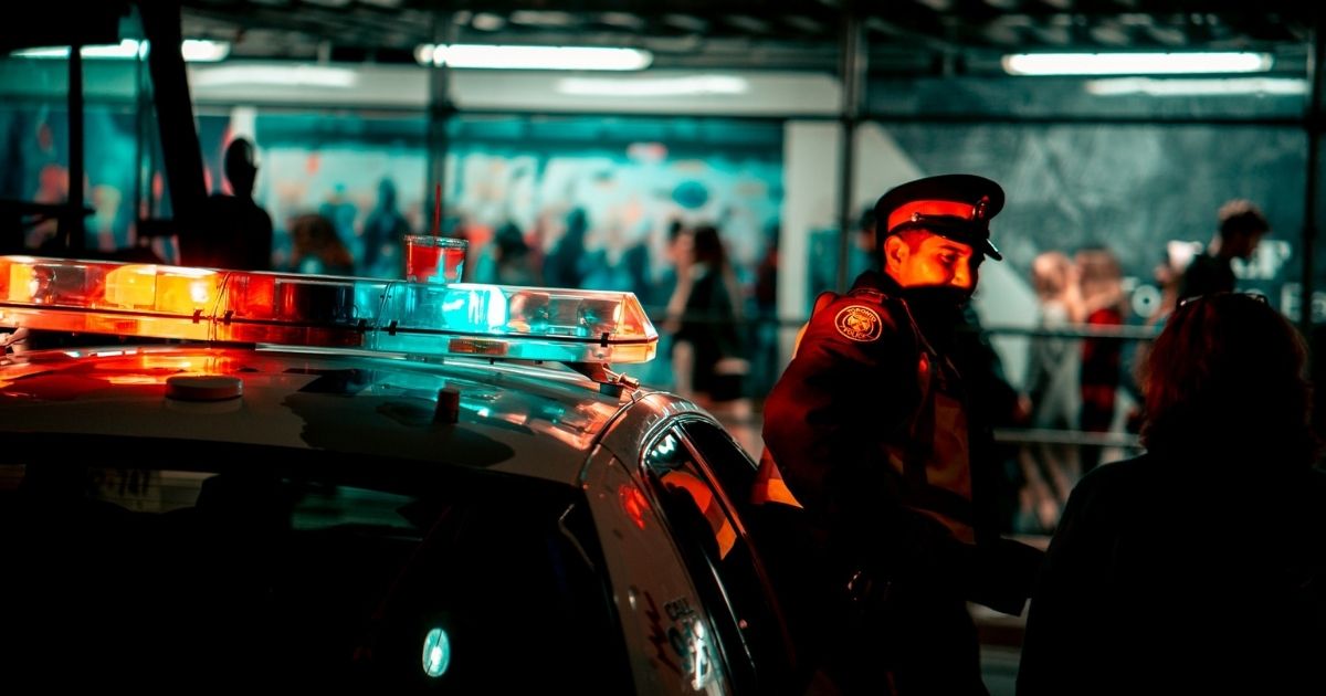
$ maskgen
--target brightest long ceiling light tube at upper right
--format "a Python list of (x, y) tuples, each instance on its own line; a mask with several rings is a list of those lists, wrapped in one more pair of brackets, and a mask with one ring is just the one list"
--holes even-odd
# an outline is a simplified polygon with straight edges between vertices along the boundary
[(1004, 56), (1014, 76), (1123, 76), (1264, 73), (1269, 53), (1016, 53)]

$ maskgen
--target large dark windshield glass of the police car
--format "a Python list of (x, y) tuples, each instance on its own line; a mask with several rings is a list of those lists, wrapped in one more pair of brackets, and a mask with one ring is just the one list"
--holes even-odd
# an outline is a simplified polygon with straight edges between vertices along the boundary
[(183, 451), (65, 437), (3, 456), (0, 681), (630, 689), (577, 489), (325, 452)]

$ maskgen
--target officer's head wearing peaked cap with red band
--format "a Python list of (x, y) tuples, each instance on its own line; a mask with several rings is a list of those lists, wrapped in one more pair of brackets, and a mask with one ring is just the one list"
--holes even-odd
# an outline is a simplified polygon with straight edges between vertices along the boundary
[(890, 190), (875, 203), (883, 270), (903, 288), (971, 294), (987, 256), (1000, 260), (989, 220), (1004, 190), (968, 174), (930, 176)]

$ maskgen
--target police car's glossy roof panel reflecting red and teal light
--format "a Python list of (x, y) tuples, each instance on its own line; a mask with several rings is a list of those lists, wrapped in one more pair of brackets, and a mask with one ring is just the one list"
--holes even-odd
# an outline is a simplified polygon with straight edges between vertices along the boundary
[[(198, 373), (239, 384), (241, 395), (168, 394), (170, 378)], [(459, 394), (455, 423), (436, 415), (443, 388)], [(274, 456), (324, 451), (568, 484), (578, 483), (594, 443), (631, 403), (565, 369), (464, 358), (149, 345), (0, 359), (0, 432), (11, 444), (133, 439), (175, 443), (186, 456), (257, 445)]]

